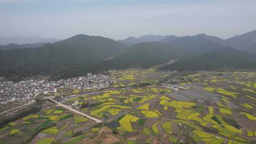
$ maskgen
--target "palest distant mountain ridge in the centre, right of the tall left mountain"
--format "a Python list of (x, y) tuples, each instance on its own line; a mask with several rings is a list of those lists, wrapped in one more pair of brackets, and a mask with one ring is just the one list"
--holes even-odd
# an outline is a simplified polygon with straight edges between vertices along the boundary
[(128, 37), (127, 39), (124, 40), (119, 40), (120, 43), (124, 45), (134, 45), (138, 43), (143, 43), (143, 42), (156, 42), (156, 41), (161, 41), (164, 39), (166, 36), (162, 35), (145, 35), (145, 36), (140, 36), (140, 37)]

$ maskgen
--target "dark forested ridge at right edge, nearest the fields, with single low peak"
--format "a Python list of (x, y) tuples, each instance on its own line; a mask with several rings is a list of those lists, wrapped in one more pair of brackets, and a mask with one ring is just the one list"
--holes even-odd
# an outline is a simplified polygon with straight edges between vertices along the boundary
[(184, 58), (167, 64), (159, 70), (215, 70), (215, 69), (255, 69), (256, 55), (230, 47), (220, 48), (207, 54)]

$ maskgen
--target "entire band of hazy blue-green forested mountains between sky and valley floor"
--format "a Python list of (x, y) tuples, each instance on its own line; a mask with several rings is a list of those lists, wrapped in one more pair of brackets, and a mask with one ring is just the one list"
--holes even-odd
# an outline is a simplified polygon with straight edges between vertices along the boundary
[(128, 38), (124, 44), (102, 36), (76, 35), (33, 49), (0, 50), (0, 76), (17, 81), (39, 74), (62, 79), (88, 72), (148, 68), (174, 59), (179, 60), (160, 70), (256, 68), (256, 55), (249, 54), (256, 50), (255, 38), (256, 31), (226, 40), (205, 34), (149, 35)]

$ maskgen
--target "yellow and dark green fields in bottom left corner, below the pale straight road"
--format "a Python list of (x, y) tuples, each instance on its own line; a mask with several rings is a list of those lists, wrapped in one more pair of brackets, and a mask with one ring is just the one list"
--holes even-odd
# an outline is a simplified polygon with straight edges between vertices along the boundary
[(0, 141), (4, 144), (52, 144), (73, 135), (93, 122), (64, 108), (43, 107), (0, 128)]

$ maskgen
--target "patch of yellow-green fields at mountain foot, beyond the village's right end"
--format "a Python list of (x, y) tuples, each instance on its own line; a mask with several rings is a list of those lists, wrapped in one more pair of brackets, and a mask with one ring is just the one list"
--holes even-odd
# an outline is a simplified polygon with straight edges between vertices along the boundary
[(111, 76), (117, 81), (114, 87), (132, 86), (138, 83), (158, 83), (170, 76), (172, 72), (158, 72), (156, 69), (129, 69), (114, 71)]

